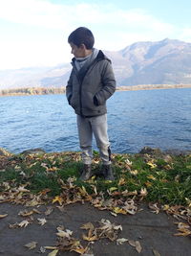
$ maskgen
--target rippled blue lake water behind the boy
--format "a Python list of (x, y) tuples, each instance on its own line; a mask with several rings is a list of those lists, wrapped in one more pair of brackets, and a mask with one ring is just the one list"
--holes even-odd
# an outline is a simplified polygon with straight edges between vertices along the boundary
[[(116, 92), (107, 105), (114, 152), (144, 146), (191, 150), (191, 89)], [(1, 97), (0, 147), (79, 151), (75, 114), (65, 95)]]

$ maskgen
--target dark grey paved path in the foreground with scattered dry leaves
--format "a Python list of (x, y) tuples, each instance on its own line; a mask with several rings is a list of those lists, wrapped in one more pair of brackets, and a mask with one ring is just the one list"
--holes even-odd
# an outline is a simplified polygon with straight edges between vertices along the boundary
[[(0, 219), (0, 256), (31, 256), (48, 255), (52, 250), (40, 252), (41, 246), (56, 244), (56, 227), (63, 225), (66, 229), (74, 231), (73, 236), (81, 240), (85, 230), (80, 226), (86, 222), (95, 224), (101, 219), (106, 219), (122, 225), (122, 231), (118, 238), (126, 238), (131, 241), (138, 241), (142, 247), (139, 255), (155, 256), (190, 256), (191, 237), (176, 237), (176, 220), (165, 213), (158, 215), (151, 213), (146, 205), (136, 215), (117, 215), (112, 216), (108, 211), (100, 211), (90, 204), (75, 203), (68, 205), (63, 211), (53, 206), (53, 212), (49, 216), (44, 213), (48, 206), (32, 207), (38, 209), (42, 214), (32, 215), (32, 224), (23, 228), (9, 228), (9, 224), (21, 222), (26, 218), (18, 216), (24, 209), (28, 211), (30, 207), (21, 205), (11, 205), (9, 203), (0, 204), (0, 215), (8, 214), (6, 218)], [(39, 225), (37, 218), (45, 218), (47, 222)], [(37, 242), (34, 249), (29, 250), (25, 244)], [(108, 239), (101, 239), (90, 245), (94, 256), (134, 256), (138, 255), (136, 248), (127, 242), (117, 245)], [(79, 255), (76, 252), (58, 252), (57, 255)]]

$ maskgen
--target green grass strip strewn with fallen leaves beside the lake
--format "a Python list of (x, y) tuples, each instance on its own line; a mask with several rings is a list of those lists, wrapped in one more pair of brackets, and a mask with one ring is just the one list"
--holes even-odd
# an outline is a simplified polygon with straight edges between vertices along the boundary
[[(97, 160), (96, 151), (94, 155)], [(62, 192), (62, 183), (74, 177), (76, 186), (83, 186), (89, 194), (94, 194), (96, 187), (97, 193), (105, 198), (111, 197), (108, 191), (137, 191), (139, 194), (141, 189), (147, 191), (145, 200), (162, 204), (186, 205), (186, 198), (191, 198), (191, 155), (171, 155), (167, 161), (155, 155), (115, 154), (113, 170), (116, 180), (112, 182), (101, 177), (90, 182), (79, 180), (82, 163), (78, 152), (17, 154), (0, 160), (5, 159), (9, 161), (0, 171), (0, 192), (9, 186), (25, 186), (34, 194), (49, 189), (48, 195), (55, 197)], [(95, 173), (99, 167), (100, 164), (93, 164)]]

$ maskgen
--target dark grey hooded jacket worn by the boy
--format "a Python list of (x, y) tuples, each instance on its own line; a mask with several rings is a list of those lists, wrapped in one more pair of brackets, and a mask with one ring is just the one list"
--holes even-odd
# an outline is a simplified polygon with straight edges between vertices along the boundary
[(111, 60), (101, 51), (79, 71), (72, 60), (73, 70), (66, 86), (66, 96), (76, 114), (93, 117), (107, 112), (106, 101), (116, 90)]

